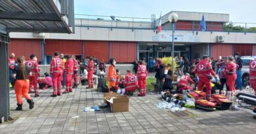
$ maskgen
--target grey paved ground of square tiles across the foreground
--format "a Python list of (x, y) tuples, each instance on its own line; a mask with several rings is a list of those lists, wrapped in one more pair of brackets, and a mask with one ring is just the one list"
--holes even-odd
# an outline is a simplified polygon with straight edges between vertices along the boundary
[[(35, 107), (16, 111), (11, 90), (11, 115), (14, 122), (0, 124), (0, 133), (255, 133), (256, 120), (249, 110), (203, 112), (188, 109), (188, 117), (177, 117), (156, 107), (160, 95), (130, 97), (129, 112), (112, 113), (110, 109), (83, 112), (103, 102), (103, 94), (79, 86), (74, 92), (50, 97), (52, 90), (40, 90)], [(135, 94), (136, 95), (136, 94)], [(32, 95), (33, 97), (33, 95)], [(72, 116), (79, 118), (72, 118)]]

